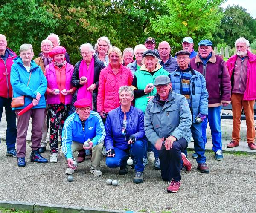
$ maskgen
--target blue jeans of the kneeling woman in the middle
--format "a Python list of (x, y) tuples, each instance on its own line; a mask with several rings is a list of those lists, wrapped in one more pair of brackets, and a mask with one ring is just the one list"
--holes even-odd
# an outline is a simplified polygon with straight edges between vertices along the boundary
[[(123, 150), (114, 147), (115, 156), (114, 157), (106, 157), (106, 164), (109, 168), (116, 168), (116, 167), (126, 167), (127, 160), (130, 156), (129, 152), (125, 152)], [(144, 164), (143, 164), (143, 156), (146, 153), (146, 146), (143, 141), (136, 141), (134, 144), (131, 144), (131, 155), (134, 156), (135, 164), (135, 171), (143, 172), (144, 171)]]

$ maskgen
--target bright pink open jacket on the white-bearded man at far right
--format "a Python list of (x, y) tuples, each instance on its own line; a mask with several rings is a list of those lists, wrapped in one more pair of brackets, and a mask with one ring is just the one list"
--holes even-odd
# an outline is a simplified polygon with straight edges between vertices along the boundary
[[(256, 55), (247, 51), (249, 60), (247, 62), (247, 79), (246, 89), (244, 92), (244, 101), (256, 100)], [(230, 79), (234, 72), (235, 62), (237, 55), (233, 55), (227, 60), (227, 69), (230, 75)]]

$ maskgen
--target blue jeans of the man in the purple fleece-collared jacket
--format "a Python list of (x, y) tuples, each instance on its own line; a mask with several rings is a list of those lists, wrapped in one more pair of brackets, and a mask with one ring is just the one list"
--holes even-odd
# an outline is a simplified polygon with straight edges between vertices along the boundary
[(208, 115), (202, 122), (202, 135), (204, 138), (204, 145), (206, 144), (206, 141), (207, 141), (206, 128), (207, 128), (208, 121), (211, 129), (211, 133), (212, 133), (212, 150), (216, 153), (218, 150), (222, 150), (221, 106), (208, 108)]

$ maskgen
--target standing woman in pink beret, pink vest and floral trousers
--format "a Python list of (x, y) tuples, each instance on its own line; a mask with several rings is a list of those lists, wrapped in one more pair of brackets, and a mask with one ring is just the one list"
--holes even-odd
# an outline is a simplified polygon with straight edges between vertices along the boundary
[(49, 52), (53, 58), (52, 63), (47, 65), (44, 75), (47, 79), (47, 104), (50, 118), (50, 162), (57, 163), (58, 136), (62, 129), (72, 102), (72, 94), (76, 87), (71, 84), (74, 66), (65, 60), (66, 49), (56, 46)]

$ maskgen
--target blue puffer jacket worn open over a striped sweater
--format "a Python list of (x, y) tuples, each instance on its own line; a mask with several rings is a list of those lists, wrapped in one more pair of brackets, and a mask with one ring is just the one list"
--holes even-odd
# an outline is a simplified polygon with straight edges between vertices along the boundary
[[(190, 79), (190, 100), (193, 123), (199, 112), (208, 115), (208, 92), (204, 76), (191, 68), (192, 76)], [(180, 72), (175, 71), (169, 75), (172, 83), (172, 91), (181, 94), (182, 84)]]

